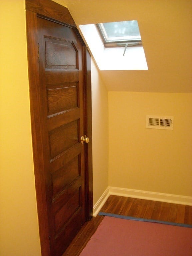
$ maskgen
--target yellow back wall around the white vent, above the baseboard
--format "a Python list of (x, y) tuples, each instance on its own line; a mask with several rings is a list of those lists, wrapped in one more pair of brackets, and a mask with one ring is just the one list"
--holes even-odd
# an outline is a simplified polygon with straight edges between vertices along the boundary
[[(174, 116), (173, 130), (146, 115)], [(192, 196), (192, 94), (109, 92), (109, 186)]]

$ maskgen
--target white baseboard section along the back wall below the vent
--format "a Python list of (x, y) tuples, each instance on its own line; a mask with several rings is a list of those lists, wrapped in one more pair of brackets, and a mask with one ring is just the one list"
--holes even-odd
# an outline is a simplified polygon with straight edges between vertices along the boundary
[(181, 196), (181, 195), (173, 195), (173, 194), (165, 194), (165, 193), (157, 193), (136, 189), (126, 189), (126, 188), (116, 188), (109, 187), (110, 195), (117, 196), (126, 196), (133, 197), (139, 199), (147, 199), (153, 201), (174, 203), (174, 204), (184, 204), (184, 205), (192, 205), (192, 197), (191, 196)]

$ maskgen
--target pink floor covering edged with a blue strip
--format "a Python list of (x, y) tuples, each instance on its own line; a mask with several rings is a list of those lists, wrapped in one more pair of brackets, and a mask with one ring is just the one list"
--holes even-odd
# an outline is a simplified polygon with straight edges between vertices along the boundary
[(192, 256), (192, 228), (105, 216), (80, 256)]

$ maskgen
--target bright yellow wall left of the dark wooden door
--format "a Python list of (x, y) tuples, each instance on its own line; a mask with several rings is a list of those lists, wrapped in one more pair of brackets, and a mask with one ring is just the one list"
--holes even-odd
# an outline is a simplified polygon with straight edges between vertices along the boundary
[(38, 256), (24, 0), (0, 1), (0, 255)]

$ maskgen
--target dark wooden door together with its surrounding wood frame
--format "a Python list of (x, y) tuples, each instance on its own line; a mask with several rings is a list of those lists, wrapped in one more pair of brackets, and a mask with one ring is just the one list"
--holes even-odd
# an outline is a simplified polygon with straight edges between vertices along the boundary
[(81, 143), (87, 132), (91, 142), (90, 59), (74, 25), (52, 19), (66, 8), (49, 0), (26, 8), (41, 251), (61, 256), (92, 215), (91, 143)]

